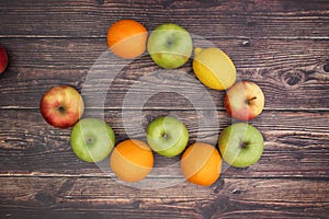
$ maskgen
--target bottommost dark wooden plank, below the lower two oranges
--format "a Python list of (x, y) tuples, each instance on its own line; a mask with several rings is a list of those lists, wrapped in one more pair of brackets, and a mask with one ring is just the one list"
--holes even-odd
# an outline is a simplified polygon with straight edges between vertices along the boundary
[(1, 177), (0, 185), (1, 218), (325, 218), (329, 210), (320, 180), (225, 178), (143, 191), (103, 177)]

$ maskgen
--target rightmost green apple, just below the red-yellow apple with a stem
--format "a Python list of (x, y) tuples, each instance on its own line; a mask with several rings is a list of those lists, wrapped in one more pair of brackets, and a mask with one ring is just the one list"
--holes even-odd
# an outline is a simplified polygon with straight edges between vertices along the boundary
[(228, 126), (218, 138), (223, 159), (236, 168), (254, 164), (262, 155), (263, 145), (262, 134), (246, 123)]

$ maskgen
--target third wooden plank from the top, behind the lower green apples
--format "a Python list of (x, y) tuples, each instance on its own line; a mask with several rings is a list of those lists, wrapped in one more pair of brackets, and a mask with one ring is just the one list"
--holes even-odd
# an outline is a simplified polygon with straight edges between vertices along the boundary
[[(120, 142), (127, 138), (145, 140), (148, 123), (161, 115), (180, 118), (190, 131), (190, 143), (216, 145), (218, 134), (232, 123), (225, 112), (209, 111), (87, 111), (84, 117), (104, 118)], [(1, 110), (0, 124), (2, 176), (113, 176), (107, 160), (98, 164), (79, 161), (70, 149), (70, 129), (50, 127), (38, 111)], [(247, 169), (225, 165), (224, 177), (328, 177), (329, 112), (265, 111), (250, 124), (264, 136), (263, 155), (256, 165)], [(182, 177), (179, 157), (156, 155), (150, 180), (163, 177)]]

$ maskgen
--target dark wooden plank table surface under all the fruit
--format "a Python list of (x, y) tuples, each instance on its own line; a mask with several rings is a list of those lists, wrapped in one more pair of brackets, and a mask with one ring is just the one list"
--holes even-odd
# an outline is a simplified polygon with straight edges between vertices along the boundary
[[(239, 78), (263, 89), (265, 108), (250, 122), (265, 139), (257, 164), (228, 168), (209, 187), (171, 185), (180, 178), (175, 170), (151, 174), (163, 186), (145, 189), (76, 158), (70, 129), (50, 127), (38, 111), (41, 96), (54, 85), (88, 91), (84, 117), (103, 115), (117, 142), (145, 136), (123, 124), (122, 112), (144, 126), (159, 115), (177, 115), (191, 142), (196, 136), (215, 141), (232, 122), (223, 107), (225, 92), (212, 90), (220, 120), (215, 129), (195, 124), (197, 111), (212, 111), (206, 103), (194, 108), (173, 92), (154, 95), (143, 108), (125, 108), (132, 84), (160, 69), (148, 56), (126, 65), (110, 89), (86, 88), (91, 67), (107, 49), (109, 26), (121, 19), (137, 20), (149, 31), (178, 23), (226, 51)], [(328, 218), (327, 0), (2, 0), (0, 21), (0, 44), (10, 58), (0, 76), (0, 218)], [(191, 60), (181, 70), (193, 77)], [(172, 82), (168, 87), (177, 88)], [(92, 105), (102, 89), (109, 89), (104, 105)], [(193, 87), (189, 91), (197, 95)], [(178, 159), (156, 157), (156, 165), (166, 169)]]

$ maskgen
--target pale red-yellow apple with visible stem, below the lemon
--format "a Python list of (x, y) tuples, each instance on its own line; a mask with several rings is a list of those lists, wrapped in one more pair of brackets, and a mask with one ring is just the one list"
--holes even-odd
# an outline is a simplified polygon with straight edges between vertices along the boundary
[(227, 113), (239, 120), (251, 120), (263, 111), (265, 97), (253, 82), (241, 81), (226, 93), (224, 105)]

